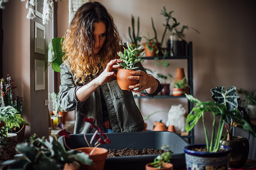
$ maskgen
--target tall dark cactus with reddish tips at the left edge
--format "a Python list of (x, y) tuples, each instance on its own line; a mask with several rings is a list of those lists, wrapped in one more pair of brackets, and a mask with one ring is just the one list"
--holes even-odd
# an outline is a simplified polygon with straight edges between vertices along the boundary
[(22, 97), (17, 96), (16, 99), (12, 98), (12, 90), (14, 90), (16, 86), (14, 86), (14, 80), (11, 80), (9, 75), (5, 76), (0, 80), (0, 92), (1, 92), (1, 106), (12, 106), (19, 114), (22, 115)]

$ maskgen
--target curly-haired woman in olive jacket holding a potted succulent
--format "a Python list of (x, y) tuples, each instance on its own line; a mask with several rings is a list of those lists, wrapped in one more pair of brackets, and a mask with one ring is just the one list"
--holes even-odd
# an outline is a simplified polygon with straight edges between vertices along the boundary
[(116, 63), (122, 62), (117, 55), (121, 43), (113, 18), (102, 4), (89, 2), (77, 10), (64, 36), (59, 95), (65, 111), (76, 110), (74, 134), (94, 132), (83, 121), (84, 115), (94, 118), (105, 133), (144, 129), (132, 92), (153, 98), (162, 86), (137, 63), (139, 71), (132, 71), (129, 79), (140, 82), (130, 91), (121, 90), (115, 75), (120, 68)]

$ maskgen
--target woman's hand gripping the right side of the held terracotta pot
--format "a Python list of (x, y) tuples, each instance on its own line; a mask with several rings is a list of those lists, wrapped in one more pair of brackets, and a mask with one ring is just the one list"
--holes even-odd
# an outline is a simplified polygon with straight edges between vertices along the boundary
[[(147, 89), (149, 94), (153, 94), (157, 90), (158, 83), (153, 76), (148, 75), (144, 71), (131, 71), (130, 74), (132, 76), (128, 77), (129, 80), (140, 80), (138, 84), (129, 86), (132, 92), (140, 92)], [(133, 90), (134, 88), (138, 87), (140, 87), (138, 90)]]

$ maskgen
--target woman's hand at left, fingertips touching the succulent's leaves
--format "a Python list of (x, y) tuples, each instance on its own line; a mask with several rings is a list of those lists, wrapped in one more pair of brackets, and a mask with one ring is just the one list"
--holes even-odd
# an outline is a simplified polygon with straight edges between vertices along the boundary
[(114, 74), (114, 70), (122, 67), (114, 64), (122, 63), (122, 62), (123, 60), (119, 60), (119, 59), (111, 60), (107, 64), (105, 70), (97, 78), (95, 78), (95, 80), (97, 79), (97, 84), (100, 86), (104, 83), (108, 83), (108, 82), (112, 82), (113, 80), (116, 80), (116, 75)]

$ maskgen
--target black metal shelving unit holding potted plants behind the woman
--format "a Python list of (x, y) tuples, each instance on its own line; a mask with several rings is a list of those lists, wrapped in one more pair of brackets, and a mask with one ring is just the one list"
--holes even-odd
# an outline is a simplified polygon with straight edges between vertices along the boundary
[[(159, 59), (162, 59), (163, 57), (159, 57)], [(154, 57), (143, 57), (142, 59), (144, 60), (154, 60)], [(188, 64), (188, 84), (189, 84), (189, 94), (194, 95), (193, 91), (193, 53), (192, 53), (192, 42), (188, 43), (188, 56), (167, 56), (165, 57), (165, 60), (177, 60), (177, 59), (185, 59), (187, 60)], [(154, 97), (154, 99), (159, 99), (159, 98), (185, 98), (185, 95), (182, 96), (173, 96), (173, 95), (168, 95), (168, 96), (161, 96), (157, 95)], [(134, 96), (134, 98), (147, 98), (147, 96)], [(189, 102), (188, 100), (188, 112), (190, 112), (193, 108), (193, 103)], [(188, 138), (189, 143), (192, 145), (195, 143), (195, 137), (194, 137), (194, 129), (192, 129), (189, 132), (188, 136), (182, 136), (182, 138)]]

